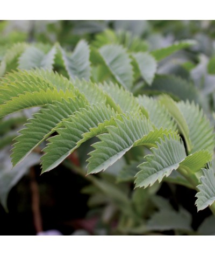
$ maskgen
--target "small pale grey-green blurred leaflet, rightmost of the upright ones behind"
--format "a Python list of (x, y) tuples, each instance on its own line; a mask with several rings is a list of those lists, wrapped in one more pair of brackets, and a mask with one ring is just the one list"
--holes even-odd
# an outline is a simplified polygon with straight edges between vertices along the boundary
[(151, 85), (157, 69), (156, 60), (147, 52), (133, 53), (132, 56), (137, 61), (142, 78)]

